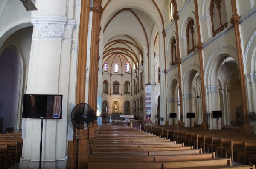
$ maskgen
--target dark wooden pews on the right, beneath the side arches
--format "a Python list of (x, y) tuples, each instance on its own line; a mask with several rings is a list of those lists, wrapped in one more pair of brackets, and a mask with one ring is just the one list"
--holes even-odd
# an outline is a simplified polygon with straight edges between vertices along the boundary
[(255, 161), (256, 135), (239, 132), (236, 128), (202, 130), (195, 127), (147, 126), (145, 131), (183, 142), (185, 146), (202, 148), (204, 152), (215, 152), (220, 157), (231, 157), (244, 164)]

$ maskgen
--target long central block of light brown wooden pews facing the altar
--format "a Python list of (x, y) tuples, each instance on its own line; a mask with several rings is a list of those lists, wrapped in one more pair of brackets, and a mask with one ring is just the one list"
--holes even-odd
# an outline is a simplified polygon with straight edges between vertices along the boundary
[[(148, 132), (124, 126), (99, 126), (92, 143), (88, 169), (225, 169), (231, 158), (215, 158), (201, 148), (185, 146)], [(237, 168), (237, 166), (236, 166)], [(253, 165), (239, 169), (255, 169)]]

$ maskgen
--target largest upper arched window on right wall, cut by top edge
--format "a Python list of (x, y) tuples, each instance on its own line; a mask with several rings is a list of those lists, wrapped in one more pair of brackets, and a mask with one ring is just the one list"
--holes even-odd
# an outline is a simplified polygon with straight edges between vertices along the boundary
[(212, 0), (210, 5), (213, 37), (227, 28), (227, 11), (224, 0)]

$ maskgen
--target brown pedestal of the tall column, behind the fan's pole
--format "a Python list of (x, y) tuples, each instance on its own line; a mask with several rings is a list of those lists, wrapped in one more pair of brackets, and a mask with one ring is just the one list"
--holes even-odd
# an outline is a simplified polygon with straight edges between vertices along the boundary
[[(76, 168), (76, 139), (68, 141), (67, 155), (69, 157), (67, 166), (69, 169)], [(78, 166), (79, 169), (84, 169), (84, 166), (88, 166), (90, 157), (90, 144), (86, 139), (79, 137), (79, 152), (78, 152)]]

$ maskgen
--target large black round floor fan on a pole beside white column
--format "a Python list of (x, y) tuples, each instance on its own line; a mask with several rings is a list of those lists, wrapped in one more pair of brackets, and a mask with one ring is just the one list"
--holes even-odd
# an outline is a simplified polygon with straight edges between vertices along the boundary
[(86, 103), (77, 104), (71, 112), (71, 122), (77, 129), (76, 138), (76, 169), (78, 169), (78, 130), (88, 127), (93, 119), (93, 111), (91, 107)]

